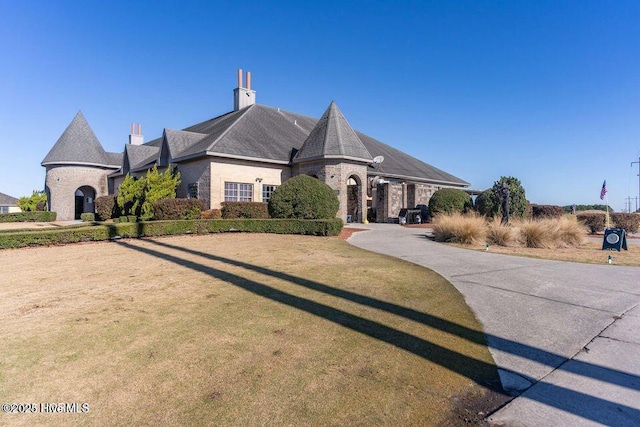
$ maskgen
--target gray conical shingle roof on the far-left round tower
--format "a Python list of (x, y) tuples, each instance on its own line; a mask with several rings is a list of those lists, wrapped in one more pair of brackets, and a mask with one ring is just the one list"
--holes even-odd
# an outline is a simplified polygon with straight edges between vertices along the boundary
[(78, 164), (103, 167), (119, 167), (121, 160), (116, 153), (102, 148), (81, 111), (73, 118), (53, 148), (42, 161), (42, 166), (54, 164)]

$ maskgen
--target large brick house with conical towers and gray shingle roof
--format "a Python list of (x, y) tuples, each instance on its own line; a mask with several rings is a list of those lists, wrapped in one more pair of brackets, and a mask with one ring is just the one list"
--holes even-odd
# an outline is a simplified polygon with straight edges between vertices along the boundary
[(284, 181), (314, 176), (335, 191), (339, 217), (377, 222), (400, 209), (427, 204), (442, 187), (469, 183), (355, 131), (335, 102), (322, 117), (256, 104), (251, 75), (238, 71), (233, 111), (189, 126), (164, 129), (147, 143), (132, 124), (124, 152), (104, 150), (81, 112), (42, 161), (49, 208), (59, 220), (94, 212), (96, 197), (117, 192), (127, 174), (141, 176), (156, 165), (181, 174), (178, 197), (201, 199), (208, 208), (224, 201), (267, 202)]

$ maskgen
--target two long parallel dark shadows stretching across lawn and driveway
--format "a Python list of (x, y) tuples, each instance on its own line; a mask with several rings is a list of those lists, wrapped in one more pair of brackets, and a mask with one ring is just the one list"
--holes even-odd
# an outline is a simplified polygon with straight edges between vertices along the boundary
[[(484, 333), (469, 329), (467, 327), (430, 315), (428, 313), (423, 313), (411, 308), (357, 294), (355, 292), (334, 288), (323, 283), (289, 275), (265, 267), (247, 264), (242, 261), (187, 249), (180, 246), (159, 242), (157, 240), (146, 241), (163, 248), (178, 250), (208, 260), (218, 261), (236, 267), (245, 268), (247, 270), (288, 281), (298, 286), (313, 289), (318, 292), (323, 292), (327, 295), (343, 298), (345, 300), (379, 310), (384, 310), (388, 313), (417, 321), (429, 327), (433, 327), (443, 332), (464, 338), (470, 342), (481, 344), (484, 346), (487, 345), (487, 335), (485, 335)], [(321, 304), (306, 298), (298, 297), (296, 295), (280, 291), (271, 286), (256, 282), (254, 280), (246, 279), (233, 273), (169, 255), (161, 251), (131, 245), (127, 242), (120, 241), (118, 242), (118, 244), (132, 250), (143, 252), (145, 254), (176, 263), (180, 266), (208, 274), (211, 277), (223, 280), (229, 284), (238, 286), (256, 295), (305, 311), (330, 322), (365, 334), (371, 338), (386, 342), (397, 348), (423, 357), (426, 360), (437, 363), (440, 366), (463, 375), (482, 387), (486, 387), (495, 392), (505, 394), (499, 384), (499, 381), (495, 381), (495, 379), (498, 378), (498, 374), (496, 371), (496, 367), (493, 364), (488, 364), (486, 362), (466, 356), (464, 354), (431, 343), (427, 340), (408, 334), (406, 332), (383, 325), (379, 322), (356, 316), (354, 314), (328, 306), (326, 304)], [(494, 335), (489, 335), (489, 337), (494, 344), (493, 348), (497, 350), (518, 355), (523, 358), (546, 364), (554, 368), (559, 367), (566, 361), (565, 357), (553, 354), (546, 350), (531, 347), (526, 344), (521, 344)], [(576, 375), (593, 378), (606, 383), (615, 384), (617, 386), (630, 388), (632, 390), (640, 390), (640, 377), (628, 374), (626, 372), (617, 371), (614, 369), (609, 369), (599, 365), (594, 365), (588, 362), (577, 360), (572, 360), (571, 363), (565, 363), (561, 367), (561, 369)], [(515, 372), (515, 374), (520, 375), (517, 372)], [(531, 380), (535, 382), (535, 379)], [(631, 420), (640, 420), (640, 411), (629, 406), (621, 405), (616, 402), (590, 396), (588, 394), (584, 394), (553, 384), (545, 384), (545, 389), (545, 393), (536, 393), (535, 397), (527, 397), (533, 397), (540, 403), (544, 403), (546, 405), (561, 409), (566, 412), (571, 412), (583, 418), (587, 418), (603, 424), (608, 424), (611, 421), (608, 413), (616, 413), (618, 415), (620, 413), (623, 413)], [(555, 399), (554, 396), (562, 396), (562, 399)]]

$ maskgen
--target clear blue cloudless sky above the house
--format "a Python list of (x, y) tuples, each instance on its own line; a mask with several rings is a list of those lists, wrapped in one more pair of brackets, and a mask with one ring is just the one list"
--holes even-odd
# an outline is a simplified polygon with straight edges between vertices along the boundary
[[(81, 110), (107, 151), (257, 102), (351, 126), (537, 204), (638, 196), (640, 2), (0, 0), (0, 192)], [(375, 155), (375, 153), (372, 153)], [(635, 208), (635, 200), (633, 201)]]

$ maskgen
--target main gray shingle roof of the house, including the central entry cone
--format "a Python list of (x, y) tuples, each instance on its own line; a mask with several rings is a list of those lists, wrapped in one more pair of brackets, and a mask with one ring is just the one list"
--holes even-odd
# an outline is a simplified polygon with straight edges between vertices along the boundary
[[(331, 138), (334, 141), (327, 143)], [(150, 167), (159, 159), (159, 151), (165, 143), (174, 162), (212, 155), (289, 164), (292, 152), (298, 150), (296, 161), (301, 157), (303, 160), (310, 159), (318, 153), (343, 153), (343, 156), (362, 161), (384, 156), (384, 162), (370, 166), (369, 173), (418, 182), (469, 185), (458, 177), (354, 131), (335, 103), (329, 106), (320, 120), (254, 104), (183, 131), (166, 129), (161, 138), (138, 148), (127, 145), (129, 151), (131, 148), (136, 151), (136, 157), (132, 160), (136, 164), (130, 165), (131, 170)]]

